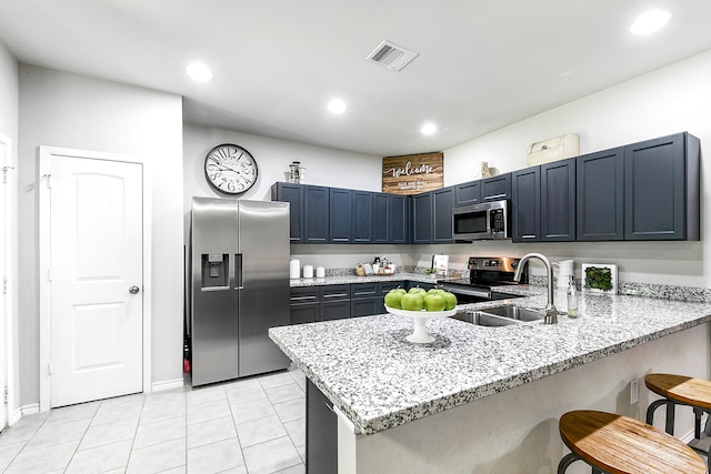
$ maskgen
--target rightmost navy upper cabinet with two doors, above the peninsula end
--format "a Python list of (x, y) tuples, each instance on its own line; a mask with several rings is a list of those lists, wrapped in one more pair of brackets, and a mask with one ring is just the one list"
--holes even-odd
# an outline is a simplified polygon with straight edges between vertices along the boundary
[(687, 132), (578, 157), (577, 240), (699, 240), (699, 159)]

